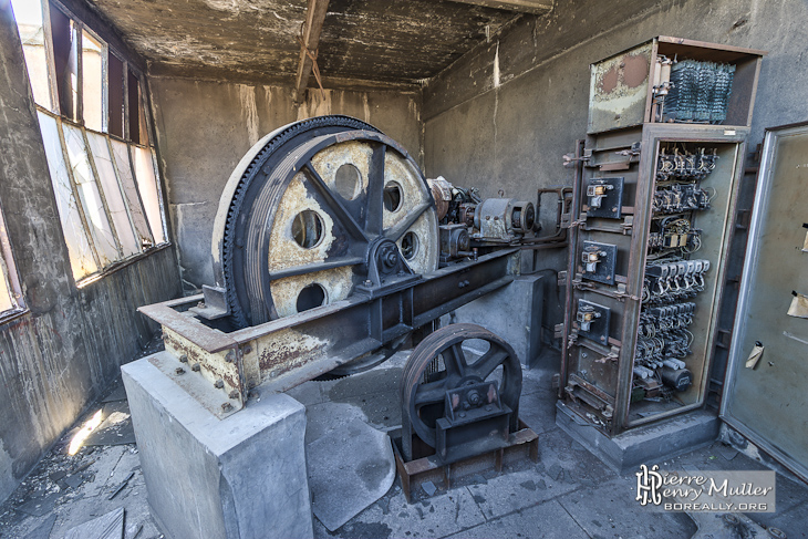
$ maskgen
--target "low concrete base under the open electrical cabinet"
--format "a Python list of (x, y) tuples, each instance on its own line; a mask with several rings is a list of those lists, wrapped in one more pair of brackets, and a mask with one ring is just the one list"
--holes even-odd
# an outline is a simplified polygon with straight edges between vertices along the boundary
[(716, 414), (696, 410), (609, 437), (564, 403), (556, 403), (556, 425), (619, 474), (711, 444), (719, 423)]

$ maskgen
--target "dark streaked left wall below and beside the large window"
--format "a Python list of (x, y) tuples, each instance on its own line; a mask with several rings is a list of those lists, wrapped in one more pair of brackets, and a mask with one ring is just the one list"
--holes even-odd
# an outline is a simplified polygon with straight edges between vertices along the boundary
[(180, 292), (173, 248), (76, 288), (39, 129), (0, 7), (0, 204), (30, 308), (0, 325), (0, 500), (148, 342), (155, 328), (136, 308)]

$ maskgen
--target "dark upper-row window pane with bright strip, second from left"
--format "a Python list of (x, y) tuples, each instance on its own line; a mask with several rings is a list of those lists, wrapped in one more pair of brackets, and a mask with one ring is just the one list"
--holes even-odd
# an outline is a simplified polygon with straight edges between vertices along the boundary
[(79, 120), (79, 37), (75, 22), (53, 6), (50, 13), (59, 108), (62, 116), (75, 122)]

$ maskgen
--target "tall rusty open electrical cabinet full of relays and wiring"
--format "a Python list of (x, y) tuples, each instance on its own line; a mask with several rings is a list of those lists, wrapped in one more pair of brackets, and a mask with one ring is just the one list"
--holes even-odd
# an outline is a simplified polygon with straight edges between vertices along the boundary
[(609, 435), (704, 404), (762, 55), (657, 38), (592, 65), (559, 392)]

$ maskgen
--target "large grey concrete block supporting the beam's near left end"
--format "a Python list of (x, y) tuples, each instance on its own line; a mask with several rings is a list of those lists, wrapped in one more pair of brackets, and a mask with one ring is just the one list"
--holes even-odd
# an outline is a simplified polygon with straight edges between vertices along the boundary
[(313, 537), (302, 404), (267, 395), (220, 421), (148, 359), (122, 371), (152, 515), (169, 538)]

